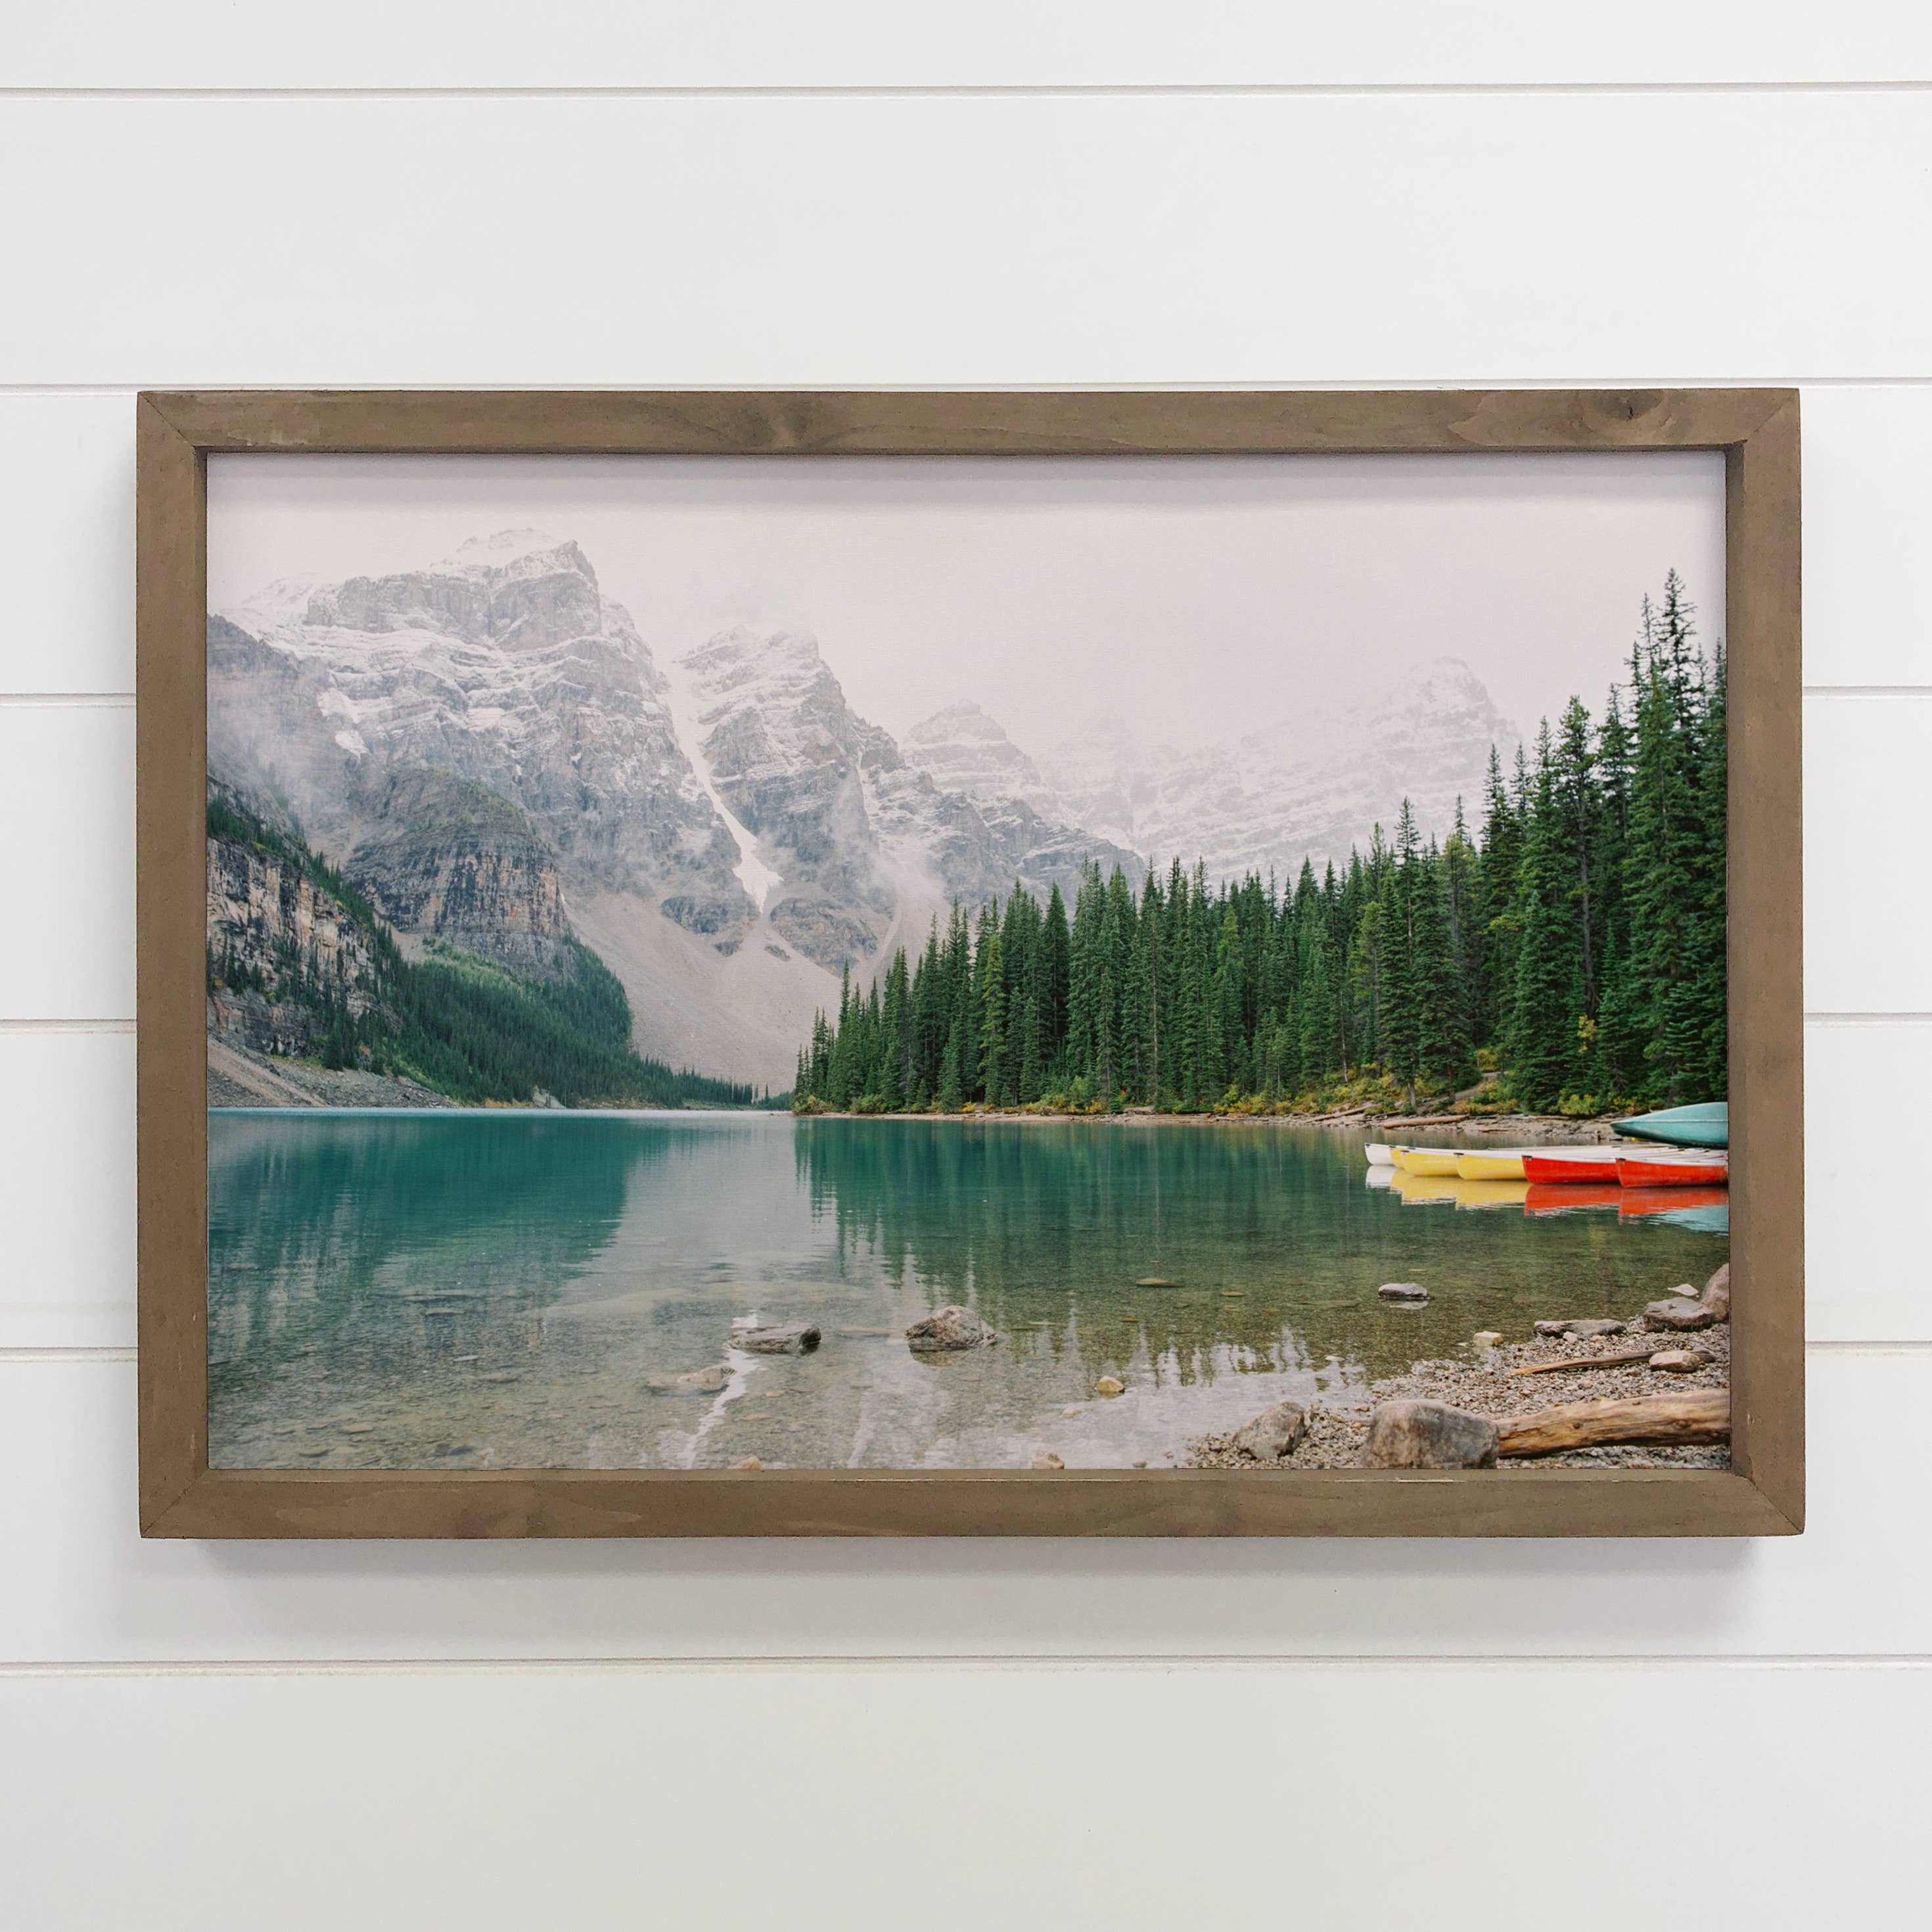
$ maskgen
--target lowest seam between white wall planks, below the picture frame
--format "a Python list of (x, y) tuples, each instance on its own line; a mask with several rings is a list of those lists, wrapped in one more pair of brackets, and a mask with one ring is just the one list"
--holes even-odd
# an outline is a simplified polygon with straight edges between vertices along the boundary
[(891, 1675), (912, 1671), (1012, 1671), (1041, 1675), (1047, 1671), (1109, 1673), (1109, 1671), (1861, 1671), (1861, 1669), (1926, 1669), (1932, 1656), (1924, 1652), (1760, 1652), (1712, 1654), (1663, 1652), (1658, 1656), (1611, 1654), (1578, 1656), (1575, 1652), (1347, 1652), (1335, 1656), (1308, 1652), (811, 1652), (804, 1656), (753, 1652), (748, 1656), (703, 1658), (292, 1658), (292, 1660), (102, 1660), (102, 1662), (17, 1662), (0, 1663), (0, 1679), (44, 1677), (719, 1677), (734, 1671), (777, 1677), (837, 1675), (866, 1671)]

